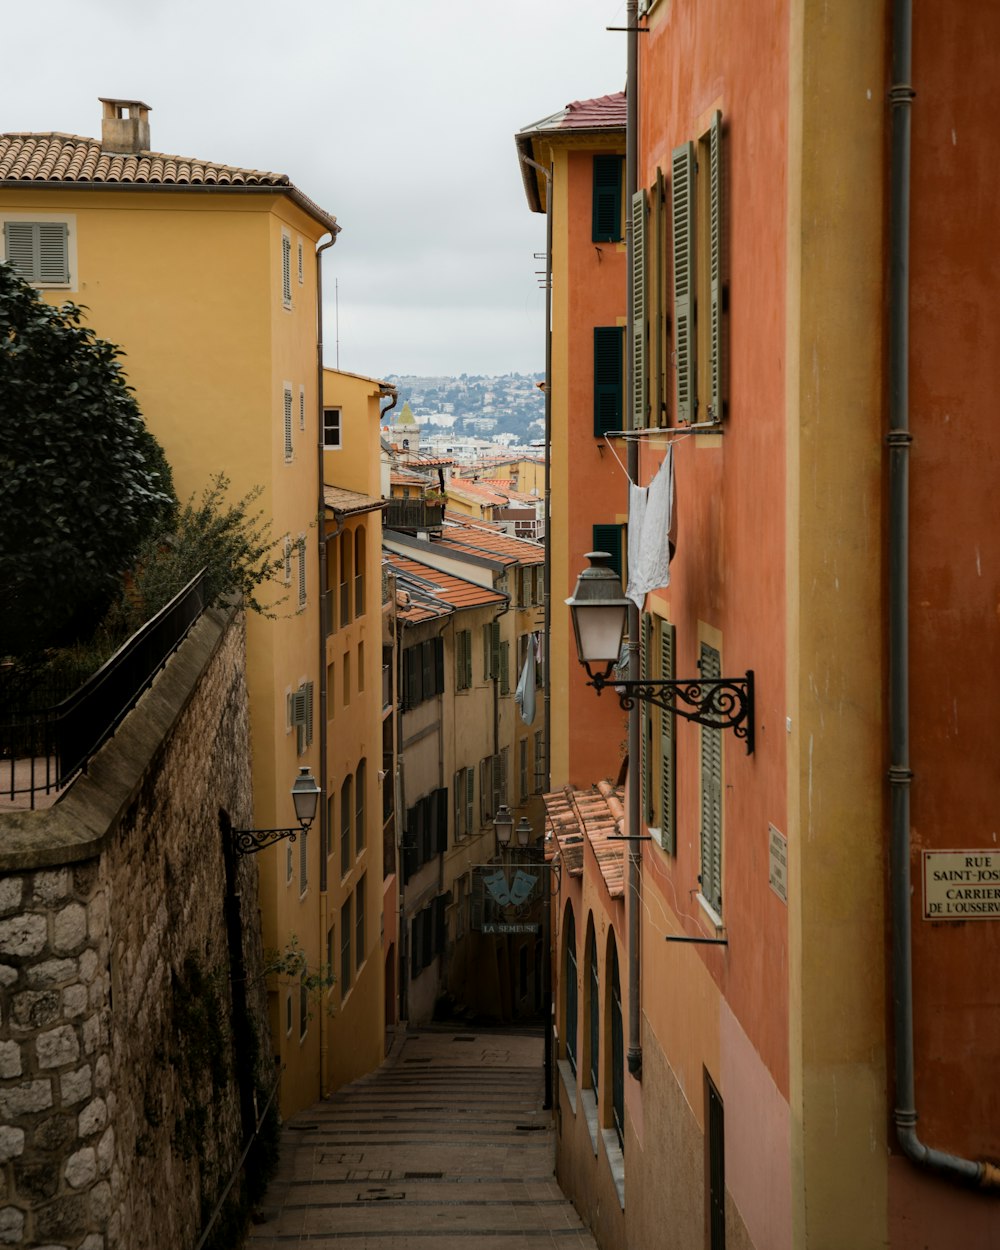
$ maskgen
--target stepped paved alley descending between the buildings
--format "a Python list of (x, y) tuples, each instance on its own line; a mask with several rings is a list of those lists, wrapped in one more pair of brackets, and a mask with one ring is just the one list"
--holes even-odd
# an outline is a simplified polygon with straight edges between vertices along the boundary
[(246, 1250), (595, 1250), (541, 1104), (539, 1035), (410, 1032), (288, 1121)]

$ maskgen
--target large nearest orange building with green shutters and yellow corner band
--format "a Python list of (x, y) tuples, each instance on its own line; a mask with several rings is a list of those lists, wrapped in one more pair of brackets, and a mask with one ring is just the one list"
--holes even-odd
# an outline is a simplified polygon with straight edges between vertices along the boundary
[(904, 0), (642, 9), (642, 664), (752, 670), (754, 738), (646, 705), (639, 828), (615, 759), (548, 798), (559, 1175), (602, 1248), (986, 1250), (1000, 12), (918, 9), (910, 62)]

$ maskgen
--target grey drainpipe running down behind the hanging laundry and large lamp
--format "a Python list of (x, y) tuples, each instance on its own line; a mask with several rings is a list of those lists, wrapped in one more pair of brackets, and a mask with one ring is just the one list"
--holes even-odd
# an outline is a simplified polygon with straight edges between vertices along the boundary
[[(625, 394), (631, 395), (634, 386), (632, 331), (635, 312), (632, 309), (632, 196), (639, 188), (639, 22), (638, 0), (629, 0), (625, 6), (628, 26), (628, 74), (625, 96), (625, 268), (626, 276), (626, 329), (625, 329)], [(635, 415), (626, 424), (631, 424)], [(629, 481), (639, 481), (639, 441), (629, 439), (626, 468)], [(629, 680), (639, 680), (639, 609), (629, 601)], [(640, 706), (634, 704), (629, 710), (629, 812), (628, 831), (632, 841), (629, 848), (628, 872), (628, 931), (629, 931), (629, 1072), (636, 1080), (642, 1079), (642, 1039), (639, 1018), (640, 950), (639, 950), (639, 899), (642, 882), (642, 844), (635, 841), (640, 830), (642, 768), (640, 748)]]

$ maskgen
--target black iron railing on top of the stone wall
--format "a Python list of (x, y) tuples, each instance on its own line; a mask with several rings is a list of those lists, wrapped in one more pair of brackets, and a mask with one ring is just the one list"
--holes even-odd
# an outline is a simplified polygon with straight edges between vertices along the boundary
[(114, 734), (205, 610), (205, 570), (124, 642), (68, 699), (0, 714), (2, 794), (60, 790)]

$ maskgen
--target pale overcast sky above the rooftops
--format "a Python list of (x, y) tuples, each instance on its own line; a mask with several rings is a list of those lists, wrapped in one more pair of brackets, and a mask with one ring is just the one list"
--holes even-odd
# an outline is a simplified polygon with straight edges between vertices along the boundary
[(338, 218), (329, 365), (336, 280), (341, 369), (529, 372), (545, 220), (514, 134), (624, 89), (605, 30), (624, 19), (625, 0), (5, 5), (0, 130), (96, 138), (98, 96), (144, 100), (155, 151), (288, 174)]

